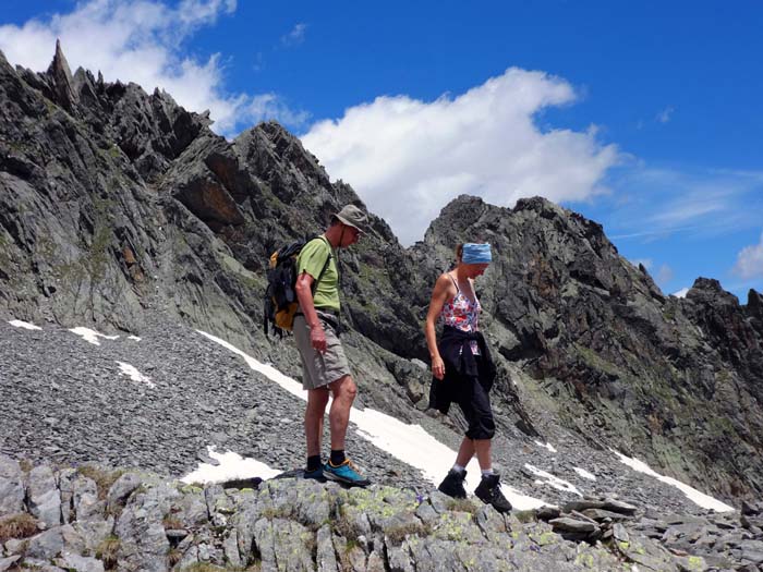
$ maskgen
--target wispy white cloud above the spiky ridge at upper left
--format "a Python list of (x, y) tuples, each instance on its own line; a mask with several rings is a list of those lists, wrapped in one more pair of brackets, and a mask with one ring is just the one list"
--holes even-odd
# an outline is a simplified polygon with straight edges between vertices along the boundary
[[(68, 14), (0, 26), (0, 50), (12, 63), (43, 71), (60, 38), (72, 70), (100, 71), (107, 81), (135, 82), (148, 93), (165, 89), (186, 109), (208, 109), (215, 130), (228, 134), (262, 119), (253, 110), (255, 98), (226, 92), (218, 53), (206, 61), (186, 57), (182, 42), (235, 7), (235, 0), (183, 0), (177, 8), (157, 0), (90, 0)], [(281, 101), (270, 109), (281, 115), (265, 119), (281, 119), (288, 108)]]

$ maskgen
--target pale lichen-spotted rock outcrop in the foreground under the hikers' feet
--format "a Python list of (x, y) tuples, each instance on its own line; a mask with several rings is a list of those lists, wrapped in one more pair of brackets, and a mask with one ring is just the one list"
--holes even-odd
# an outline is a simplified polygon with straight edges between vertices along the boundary
[[(1, 455), (0, 475), (0, 570), (703, 571), (763, 562), (760, 503), (659, 520), (589, 499), (501, 515), (437, 491), (286, 475), (249, 488), (204, 486), (97, 465), (22, 467)], [(49, 498), (46, 513), (19, 506), (11, 491), (20, 489)]]

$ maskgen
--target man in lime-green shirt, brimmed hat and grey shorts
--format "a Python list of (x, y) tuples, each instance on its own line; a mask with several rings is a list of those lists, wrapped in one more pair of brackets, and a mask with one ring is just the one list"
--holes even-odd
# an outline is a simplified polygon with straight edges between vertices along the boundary
[[(367, 486), (344, 454), (344, 437), (350, 409), (358, 393), (344, 350), (339, 341), (339, 272), (336, 251), (356, 243), (368, 217), (356, 206), (347, 205), (331, 217), (326, 232), (304, 245), (296, 259), (294, 340), (302, 356), (302, 386), (307, 390), (305, 478), (329, 478), (353, 486)], [(324, 413), (329, 392), (334, 398), (328, 413), (331, 457), (320, 458)]]

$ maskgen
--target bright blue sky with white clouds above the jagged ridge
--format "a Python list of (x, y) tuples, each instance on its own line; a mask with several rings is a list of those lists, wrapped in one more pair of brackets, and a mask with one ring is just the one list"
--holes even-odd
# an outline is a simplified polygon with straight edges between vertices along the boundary
[[(763, 4), (4, 0), (0, 49), (275, 118), (403, 244), (457, 194), (601, 222), (664, 292), (763, 290)], [(94, 49), (94, 46), (98, 49)], [(400, 205), (405, 205), (401, 209)]]

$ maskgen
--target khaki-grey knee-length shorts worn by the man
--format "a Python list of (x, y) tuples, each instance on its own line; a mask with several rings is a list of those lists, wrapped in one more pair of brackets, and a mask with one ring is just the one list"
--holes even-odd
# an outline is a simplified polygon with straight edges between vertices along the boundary
[(350, 364), (344, 356), (344, 349), (329, 321), (320, 315), (318, 319), (326, 332), (326, 352), (318, 352), (310, 343), (310, 328), (304, 316), (294, 316), (294, 341), (302, 356), (302, 387), (317, 389), (337, 379), (350, 375)]

